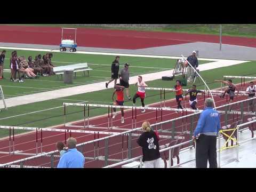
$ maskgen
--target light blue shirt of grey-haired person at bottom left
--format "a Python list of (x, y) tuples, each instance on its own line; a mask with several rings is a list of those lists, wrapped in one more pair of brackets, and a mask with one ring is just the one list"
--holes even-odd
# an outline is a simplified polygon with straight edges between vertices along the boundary
[(60, 157), (57, 168), (84, 168), (84, 155), (77, 149), (68, 149)]

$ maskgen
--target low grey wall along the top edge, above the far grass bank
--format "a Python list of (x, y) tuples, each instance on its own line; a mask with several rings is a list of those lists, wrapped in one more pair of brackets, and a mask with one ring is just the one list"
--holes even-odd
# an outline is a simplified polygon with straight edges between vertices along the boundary
[(150, 28), (150, 27), (165, 27), (170, 24), (76, 24), (81, 26), (102, 26), (102, 27), (141, 27), (141, 28)]

